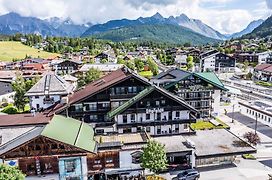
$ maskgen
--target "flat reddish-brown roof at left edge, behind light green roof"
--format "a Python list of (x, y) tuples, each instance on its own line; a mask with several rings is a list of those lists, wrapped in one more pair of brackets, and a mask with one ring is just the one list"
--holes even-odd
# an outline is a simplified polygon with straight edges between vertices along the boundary
[(43, 113), (36, 113), (35, 116), (32, 114), (0, 115), (0, 127), (42, 125), (49, 123), (51, 118)]

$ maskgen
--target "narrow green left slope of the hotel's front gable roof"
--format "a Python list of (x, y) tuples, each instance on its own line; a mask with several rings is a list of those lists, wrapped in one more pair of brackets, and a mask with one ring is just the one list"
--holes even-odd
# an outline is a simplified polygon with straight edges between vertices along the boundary
[(108, 118), (111, 119), (116, 114), (122, 113), (124, 110), (126, 110), (128, 107), (130, 107), (133, 103), (139, 101), (140, 99), (142, 99), (143, 97), (145, 97), (147, 94), (151, 93), (154, 89), (155, 89), (154, 86), (149, 86), (149, 87), (145, 88), (143, 91), (141, 91), (140, 93), (138, 93), (136, 96), (134, 96), (133, 98), (131, 98), (130, 100), (128, 100), (127, 102), (125, 102), (124, 104), (122, 104), (121, 106), (119, 106), (118, 108), (110, 111), (108, 113)]

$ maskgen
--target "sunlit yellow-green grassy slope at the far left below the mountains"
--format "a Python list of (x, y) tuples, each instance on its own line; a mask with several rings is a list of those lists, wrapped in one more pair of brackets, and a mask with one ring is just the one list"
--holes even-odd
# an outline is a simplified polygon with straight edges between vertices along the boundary
[(24, 59), (25, 56), (49, 58), (58, 54), (40, 51), (15, 41), (0, 41), (0, 61), (12, 61), (13, 59)]

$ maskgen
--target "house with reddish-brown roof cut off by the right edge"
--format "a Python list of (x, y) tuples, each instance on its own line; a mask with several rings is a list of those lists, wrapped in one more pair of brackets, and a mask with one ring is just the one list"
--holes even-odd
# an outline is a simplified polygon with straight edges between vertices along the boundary
[(254, 77), (261, 81), (272, 82), (272, 64), (259, 64), (254, 68)]

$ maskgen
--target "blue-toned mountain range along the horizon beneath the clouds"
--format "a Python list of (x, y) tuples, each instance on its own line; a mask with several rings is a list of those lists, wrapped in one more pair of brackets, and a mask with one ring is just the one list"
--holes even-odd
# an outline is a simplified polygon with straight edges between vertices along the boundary
[[(139, 37), (147, 37), (146, 34), (139, 34), (139, 30), (144, 30), (147, 34), (151, 32), (155, 33), (154, 35), (166, 35), (162, 33), (162, 29), (168, 29), (169, 37), (174, 37), (177, 31), (182, 32), (182, 37), (184, 39), (190, 40), (190, 38), (186, 37), (188, 34), (194, 34), (194, 37), (202, 38), (199, 40), (203, 41), (203, 39), (211, 42), (211, 39), (217, 40), (226, 40), (230, 38), (238, 38), (247, 33), (251, 33), (256, 27), (258, 27), (263, 20), (257, 20), (251, 22), (248, 27), (241, 32), (234, 33), (232, 35), (221, 34), (216, 31), (212, 27), (206, 25), (200, 20), (190, 19), (185, 14), (181, 14), (180, 16), (170, 16), (168, 18), (164, 18), (161, 14), (156, 13), (151, 17), (139, 17), (136, 20), (129, 19), (121, 19), (121, 20), (110, 20), (104, 24), (96, 24), (92, 23), (87, 24), (76, 24), (70, 18), (60, 19), (57, 17), (49, 18), (49, 19), (39, 19), (35, 17), (23, 17), (17, 13), (8, 13), (0, 16), (0, 34), (15, 34), (15, 33), (23, 33), (23, 34), (41, 34), (43, 36), (68, 36), (68, 37), (99, 37), (104, 39), (119, 40), (124, 39), (121, 36), (120, 32), (126, 32), (124, 36), (125, 40), (135, 39), (137, 36)], [(141, 27), (143, 26), (143, 27)], [(169, 27), (164, 26), (177, 26), (175, 27), (175, 31), (169, 31)], [(135, 29), (134, 33), (128, 32), (129, 29)], [(125, 29), (123, 29), (125, 28)], [(143, 29), (146, 28), (146, 29)], [(156, 29), (154, 29), (156, 28)], [(188, 33), (189, 31), (192, 31)], [(137, 32), (137, 33), (136, 33)], [(187, 34), (186, 34), (187, 33)], [(195, 35), (198, 34), (198, 35)], [(112, 37), (110, 37), (112, 35)], [(117, 37), (119, 36), (119, 37)], [(138, 39), (143, 39), (139, 38)], [(154, 37), (154, 36), (153, 36)], [(207, 38), (206, 38), (207, 37)], [(163, 39), (163, 37), (157, 37), (156, 39)], [(191, 38), (192, 39), (192, 38)], [(172, 40), (171, 40), (172, 41)], [(212, 40), (213, 41), (213, 40)]]

